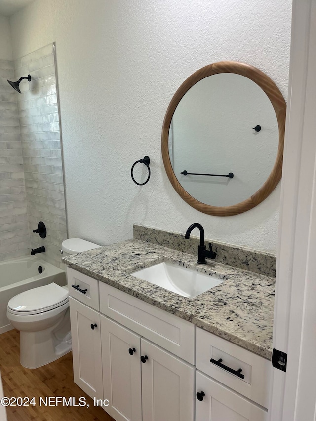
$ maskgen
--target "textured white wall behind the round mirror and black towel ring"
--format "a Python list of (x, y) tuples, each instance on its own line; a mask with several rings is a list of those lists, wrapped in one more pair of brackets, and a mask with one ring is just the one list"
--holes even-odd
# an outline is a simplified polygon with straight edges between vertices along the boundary
[[(160, 134), (178, 86), (220, 60), (266, 72), (286, 98), (291, 0), (36, 0), (11, 20), (14, 58), (56, 42), (71, 236), (108, 244), (132, 224), (276, 252), (280, 188), (233, 217), (204, 215), (175, 193)], [(152, 177), (130, 178), (149, 155)], [(145, 172), (144, 172), (145, 176)]]

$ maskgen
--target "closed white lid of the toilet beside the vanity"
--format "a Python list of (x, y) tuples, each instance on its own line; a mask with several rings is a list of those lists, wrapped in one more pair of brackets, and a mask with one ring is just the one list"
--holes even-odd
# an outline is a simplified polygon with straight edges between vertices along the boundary
[(68, 290), (52, 282), (11, 298), (8, 309), (19, 314), (37, 314), (59, 307), (68, 300)]

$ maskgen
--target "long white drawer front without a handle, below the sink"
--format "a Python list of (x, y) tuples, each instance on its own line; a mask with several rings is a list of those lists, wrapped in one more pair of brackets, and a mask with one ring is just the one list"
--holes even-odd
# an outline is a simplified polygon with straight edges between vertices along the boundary
[(100, 311), (178, 357), (195, 363), (195, 326), (100, 282)]

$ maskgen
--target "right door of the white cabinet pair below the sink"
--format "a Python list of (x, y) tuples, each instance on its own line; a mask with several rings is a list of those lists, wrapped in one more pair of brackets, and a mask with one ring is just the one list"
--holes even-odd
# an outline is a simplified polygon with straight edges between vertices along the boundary
[(143, 421), (193, 421), (195, 369), (142, 338)]

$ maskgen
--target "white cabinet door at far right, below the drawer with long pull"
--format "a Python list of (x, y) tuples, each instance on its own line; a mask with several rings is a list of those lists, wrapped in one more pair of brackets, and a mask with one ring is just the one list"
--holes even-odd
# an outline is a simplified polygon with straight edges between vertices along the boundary
[[(197, 371), (196, 421), (267, 421), (261, 407)], [(201, 394), (204, 396), (201, 396)]]

